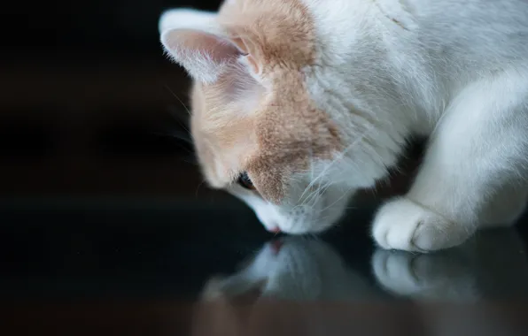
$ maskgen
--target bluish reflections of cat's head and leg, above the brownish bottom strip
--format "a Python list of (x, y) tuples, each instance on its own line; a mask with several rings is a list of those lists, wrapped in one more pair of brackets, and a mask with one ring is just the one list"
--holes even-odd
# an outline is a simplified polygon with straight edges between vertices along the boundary
[(283, 237), (266, 243), (236, 273), (210, 279), (203, 298), (353, 301), (386, 292), (422, 302), (470, 303), (528, 297), (528, 261), (514, 230), (479, 233), (460, 247), (427, 255), (378, 249), (371, 262), (383, 290), (328, 243)]

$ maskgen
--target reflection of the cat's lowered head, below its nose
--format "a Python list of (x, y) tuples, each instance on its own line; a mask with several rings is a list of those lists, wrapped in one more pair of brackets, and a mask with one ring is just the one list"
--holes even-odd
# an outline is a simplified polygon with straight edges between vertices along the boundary
[(203, 297), (336, 301), (369, 300), (379, 293), (327, 243), (284, 237), (266, 243), (235, 274), (210, 279)]

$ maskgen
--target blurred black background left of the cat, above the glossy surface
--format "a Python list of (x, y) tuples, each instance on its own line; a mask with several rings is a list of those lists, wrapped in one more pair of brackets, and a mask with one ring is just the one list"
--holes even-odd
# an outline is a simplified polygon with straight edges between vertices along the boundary
[(178, 139), (188, 78), (163, 56), (157, 25), (170, 7), (218, 5), (61, 1), (4, 11), (13, 23), (0, 62), (2, 195), (196, 194), (191, 147)]

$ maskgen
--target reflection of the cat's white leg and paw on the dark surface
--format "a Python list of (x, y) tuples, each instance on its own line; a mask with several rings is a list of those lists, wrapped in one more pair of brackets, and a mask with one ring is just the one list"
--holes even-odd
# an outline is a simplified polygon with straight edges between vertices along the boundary
[(420, 302), (528, 297), (528, 260), (515, 230), (482, 232), (434, 254), (377, 250), (372, 268), (385, 290)]

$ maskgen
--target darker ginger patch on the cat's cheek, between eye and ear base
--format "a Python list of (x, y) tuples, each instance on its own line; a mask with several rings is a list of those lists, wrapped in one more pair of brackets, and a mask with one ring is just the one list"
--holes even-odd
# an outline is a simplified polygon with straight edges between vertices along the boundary
[(266, 186), (261, 194), (271, 202), (281, 202), (291, 173), (341, 149), (337, 126), (314, 106), (302, 76), (284, 73), (276, 89), (275, 99), (257, 114), (259, 156), (249, 166), (260, 172), (256, 183)]

